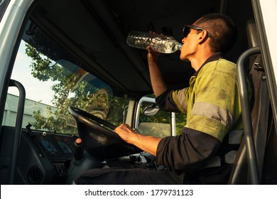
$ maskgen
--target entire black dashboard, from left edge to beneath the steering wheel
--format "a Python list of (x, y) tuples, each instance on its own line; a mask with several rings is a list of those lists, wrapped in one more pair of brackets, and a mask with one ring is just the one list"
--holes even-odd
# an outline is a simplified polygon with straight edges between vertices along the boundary
[[(4, 143), (3, 149), (6, 149), (0, 153), (2, 168), (9, 167), (11, 162), (14, 131), (14, 127), (1, 128), (0, 139)], [(153, 156), (146, 153), (99, 161), (84, 151), (82, 159), (76, 159), (74, 156), (77, 157), (80, 152), (80, 147), (75, 148), (76, 139), (77, 136), (70, 134), (22, 129), (14, 184), (67, 185), (71, 184), (77, 175), (90, 168), (118, 167), (122, 164), (126, 166), (126, 163), (130, 164), (131, 168), (135, 166), (157, 169)], [(0, 177), (0, 182), (5, 184), (9, 178), (9, 170), (0, 171)]]

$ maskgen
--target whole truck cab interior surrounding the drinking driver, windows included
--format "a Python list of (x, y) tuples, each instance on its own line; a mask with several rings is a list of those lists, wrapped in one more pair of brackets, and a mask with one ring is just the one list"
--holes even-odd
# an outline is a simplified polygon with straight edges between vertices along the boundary
[[(181, 43), (184, 24), (218, 12), (237, 25), (237, 41), (225, 58), (241, 68), (241, 101), (248, 99), (243, 95), (245, 75), (254, 93), (252, 104), (241, 103), (245, 141), (229, 183), (276, 184), (276, 82), (268, 83), (271, 58), (261, 40), (257, 2), (2, 1), (0, 183), (71, 184), (82, 171), (118, 163), (162, 169), (155, 157), (113, 132), (126, 123), (146, 134), (142, 124), (158, 123), (165, 133), (158, 129), (161, 134), (154, 134), (156, 126), (151, 126), (152, 135), (174, 136), (184, 120), (175, 114), (173, 120), (173, 114), (161, 110), (155, 113), (159, 120), (143, 112), (156, 108), (147, 51), (131, 48), (126, 36), (133, 30), (155, 31)], [(172, 89), (187, 87), (195, 72), (179, 55), (159, 57)], [(142, 97), (149, 97), (143, 105)]]

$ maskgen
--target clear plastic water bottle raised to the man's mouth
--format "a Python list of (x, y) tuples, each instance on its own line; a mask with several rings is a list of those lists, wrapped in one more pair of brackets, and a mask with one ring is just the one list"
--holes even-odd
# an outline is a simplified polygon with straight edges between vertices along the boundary
[(131, 31), (126, 38), (127, 44), (134, 48), (151, 48), (160, 53), (174, 53), (180, 50), (182, 43), (178, 43), (172, 36), (145, 33), (141, 31)]

